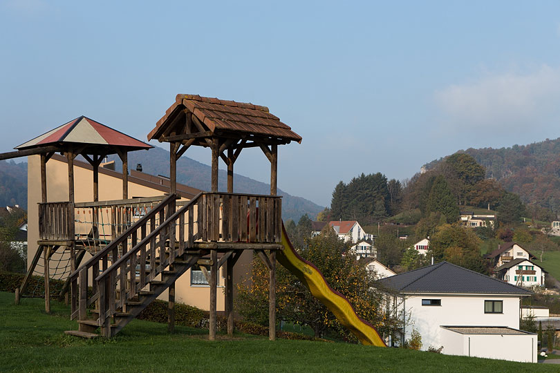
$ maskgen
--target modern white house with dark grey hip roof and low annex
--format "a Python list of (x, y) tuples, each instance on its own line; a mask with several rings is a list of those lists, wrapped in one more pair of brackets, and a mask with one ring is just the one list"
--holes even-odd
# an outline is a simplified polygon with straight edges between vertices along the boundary
[(379, 283), (398, 293), (387, 303), (404, 321), (400, 343), (416, 329), (422, 350), (442, 346), (443, 354), (536, 363), (536, 334), (519, 330), (520, 298), (530, 291), (449, 262)]

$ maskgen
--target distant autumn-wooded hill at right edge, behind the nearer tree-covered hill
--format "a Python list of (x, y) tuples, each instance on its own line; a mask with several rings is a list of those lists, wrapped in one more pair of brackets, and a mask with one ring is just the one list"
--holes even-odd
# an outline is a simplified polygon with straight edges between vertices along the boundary
[[(501, 149), (460, 151), (474, 157), (486, 168), (486, 177), (494, 178), (523, 202), (560, 213), (560, 138), (529, 145)], [(440, 160), (424, 165), (433, 169)]]

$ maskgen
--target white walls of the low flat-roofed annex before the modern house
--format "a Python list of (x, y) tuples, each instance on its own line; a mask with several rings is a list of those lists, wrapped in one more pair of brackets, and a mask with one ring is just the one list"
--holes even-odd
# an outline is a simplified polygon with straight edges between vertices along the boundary
[(440, 329), (444, 354), (536, 363), (536, 334), (460, 334)]

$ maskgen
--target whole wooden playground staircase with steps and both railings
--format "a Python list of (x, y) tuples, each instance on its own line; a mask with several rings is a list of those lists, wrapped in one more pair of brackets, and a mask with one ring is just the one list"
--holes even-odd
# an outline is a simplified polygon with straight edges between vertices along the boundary
[[(71, 274), (71, 318), (77, 319), (78, 329), (66, 334), (115, 336), (207, 254), (186, 249), (197, 239), (194, 207), (199, 196), (174, 212), (176, 195), (169, 195)], [(101, 334), (95, 334), (99, 328)]]

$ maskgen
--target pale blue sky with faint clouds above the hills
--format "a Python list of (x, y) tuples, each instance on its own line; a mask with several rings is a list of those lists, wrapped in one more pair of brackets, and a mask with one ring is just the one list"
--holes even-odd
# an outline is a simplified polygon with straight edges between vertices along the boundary
[[(560, 136), (558, 1), (0, 0), (0, 35), (0, 151), (79, 115), (145, 141), (177, 93), (252, 102), (304, 138), (279, 187), (328, 205), (362, 172)], [(270, 177), (256, 149), (235, 171)]]

